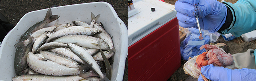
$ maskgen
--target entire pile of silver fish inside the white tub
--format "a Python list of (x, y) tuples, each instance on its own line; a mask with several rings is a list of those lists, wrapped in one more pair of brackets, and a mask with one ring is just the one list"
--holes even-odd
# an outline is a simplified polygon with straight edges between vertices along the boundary
[(91, 17), (90, 24), (58, 24), (59, 15), (52, 15), (49, 8), (44, 20), (29, 28), (15, 44), (16, 76), (12, 80), (110, 81), (108, 58), (114, 54), (113, 41), (103, 24), (96, 23), (100, 15), (95, 17), (91, 12)]

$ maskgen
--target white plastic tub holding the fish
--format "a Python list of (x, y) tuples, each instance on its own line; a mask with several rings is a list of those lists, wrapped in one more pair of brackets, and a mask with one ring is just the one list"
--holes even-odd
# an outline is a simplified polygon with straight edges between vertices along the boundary
[[(42, 21), (48, 9), (28, 12), (17, 25), (12, 29), (2, 41), (0, 47), (0, 80), (12, 81), (15, 76), (14, 71), (14, 44), (25, 31), (36, 22)], [(111, 81), (122, 81), (125, 67), (125, 59), (128, 54), (128, 30), (123, 21), (117, 16), (114, 8), (107, 2), (91, 2), (85, 4), (75, 4), (52, 8), (53, 15), (60, 15), (60, 23), (72, 23), (72, 21), (91, 22), (91, 12), (94, 15), (100, 14), (97, 23), (102, 22), (105, 30), (113, 36), (116, 53), (113, 56)], [(48, 25), (53, 25), (55, 21)]]

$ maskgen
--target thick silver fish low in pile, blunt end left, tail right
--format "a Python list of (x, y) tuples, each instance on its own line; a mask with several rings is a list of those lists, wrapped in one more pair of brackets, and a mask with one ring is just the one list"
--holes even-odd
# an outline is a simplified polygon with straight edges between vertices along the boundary
[(45, 58), (38, 57), (32, 52), (29, 52), (27, 54), (27, 64), (32, 70), (36, 71), (37, 73), (52, 76), (79, 75), (86, 78), (86, 74), (84, 74), (83, 70), (90, 68), (88, 66), (69, 68), (67, 66), (57, 64)]

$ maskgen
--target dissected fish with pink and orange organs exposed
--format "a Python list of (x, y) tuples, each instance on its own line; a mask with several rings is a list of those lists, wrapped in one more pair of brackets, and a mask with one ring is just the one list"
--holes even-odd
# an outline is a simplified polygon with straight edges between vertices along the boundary
[[(183, 70), (186, 74), (193, 76), (194, 78), (199, 77), (201, 74), (202, 66), (213, 64), (215, 66), (223, 66), (228, 69), (238, 69), (235, 67), (233, 57), (230, 53), (226, 53), (219, 46), (224, 46), (224, 43), (218, 43), (216, 45), (203, 45), (200, 49), (206, 48), (207, 52), (189, 58), (184, 64)], [(202, 75), (203, 80), (206, 78)]]

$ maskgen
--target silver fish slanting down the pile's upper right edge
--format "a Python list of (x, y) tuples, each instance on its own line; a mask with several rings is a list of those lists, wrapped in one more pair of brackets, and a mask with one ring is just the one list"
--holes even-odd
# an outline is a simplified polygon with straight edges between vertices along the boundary
[(96, 36), (96, 37), (99, 37), (99, 38), (101, 38), (102, 40), (104, 40), (105, 42), (107, 42), (107, 44), (108, 44), (109, 47), (110, 47), (110, 50), (112, 50), (112, 49), (114, 48), (113, 41), (112, 41), (110, 35), (103, 29), (102, 23), (101, 23), (101, 22), (100, 22), (100, 24), (95, 23), (95, 24), (94, 24), (94, 28), (96, 28), (96, 29), (102, 31), (101, 33), (96, 34), (95, 36)]

